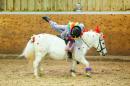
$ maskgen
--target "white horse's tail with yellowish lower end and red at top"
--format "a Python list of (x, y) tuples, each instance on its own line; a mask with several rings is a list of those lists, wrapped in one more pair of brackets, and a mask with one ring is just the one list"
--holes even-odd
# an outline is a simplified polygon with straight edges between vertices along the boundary
[(25, 57), (29, 61), (29, 63), (32, 63), (35, 58), (34, 41), (35, 36), (32, 36), (31, 39), (28, 41), (23, 53), (20, 55), (20, 57)]

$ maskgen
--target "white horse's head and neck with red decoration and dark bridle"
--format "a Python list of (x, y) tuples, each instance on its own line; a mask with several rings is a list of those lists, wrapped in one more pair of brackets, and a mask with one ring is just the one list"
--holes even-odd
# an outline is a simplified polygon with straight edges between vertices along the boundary
[(84, 32), (82, 39), (88, 47), (96, 48), (100, 55), (107, 54), (104, 35), (99, 30)]

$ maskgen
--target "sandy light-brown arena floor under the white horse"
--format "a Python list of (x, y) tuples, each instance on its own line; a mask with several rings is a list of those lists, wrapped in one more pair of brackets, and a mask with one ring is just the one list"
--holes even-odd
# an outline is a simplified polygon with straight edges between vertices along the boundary
[(130, 62), (90, 60), (92, 77), (84, 75), (84, 65), (77, 66), (77, 76), (70, 76), (70, 62), (45, 60), (41, 78), (36, 79), (25, 59), (0, 59), (0, 86), (130, 86)]

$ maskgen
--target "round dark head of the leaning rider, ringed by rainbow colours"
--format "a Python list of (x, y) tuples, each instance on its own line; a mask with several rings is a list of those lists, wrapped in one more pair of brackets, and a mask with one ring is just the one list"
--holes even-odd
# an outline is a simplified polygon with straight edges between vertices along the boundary
[(81, 28), (79, 26), (74, 26), (70, 34), (73, 38), (78, 38), (81, 35)]

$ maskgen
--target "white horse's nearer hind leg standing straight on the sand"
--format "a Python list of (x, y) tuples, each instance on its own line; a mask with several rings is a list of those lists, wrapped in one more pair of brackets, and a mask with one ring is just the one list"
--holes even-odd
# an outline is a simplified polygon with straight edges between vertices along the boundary
[(34, 60), (34, 62), (33, 62), (33, 68), (34, 68), (34, 75), (35, 75), (36, 77), (39, 77), (39, 75), (38, 75), (39, 66), (40, 66), (40, 62), (41, 62), (41, 60), (42, 60), (42, 57), (44, 57), (44, 56), (45, 56), (45, 53), (44, 53), (44, 54), (43, 54), (43, 53), (40, 53), (40, 52), (35, 53), (35, 60)]

